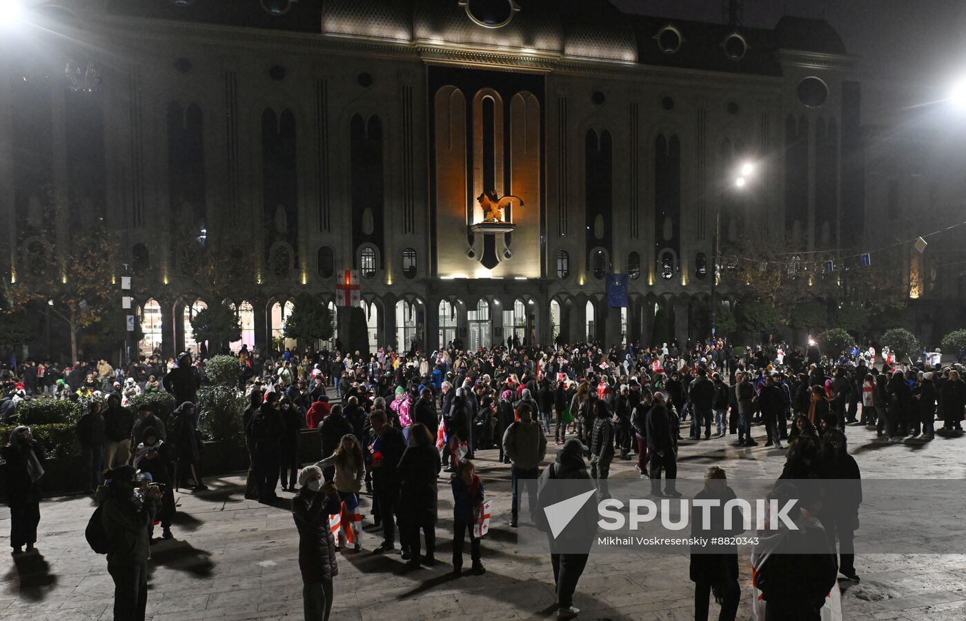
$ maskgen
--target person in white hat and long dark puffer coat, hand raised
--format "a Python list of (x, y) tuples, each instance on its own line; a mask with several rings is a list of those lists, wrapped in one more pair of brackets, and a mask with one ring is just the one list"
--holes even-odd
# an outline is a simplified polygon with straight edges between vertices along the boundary
[(339, 565), (328, 516), (338, 512), (335, 483), (323, 483), (318, 466), (298, 471), (292, 517), (298, 527), (298, 569), (305, 621), (327, 621), (332, 609), (332, 579), (338, 575)]

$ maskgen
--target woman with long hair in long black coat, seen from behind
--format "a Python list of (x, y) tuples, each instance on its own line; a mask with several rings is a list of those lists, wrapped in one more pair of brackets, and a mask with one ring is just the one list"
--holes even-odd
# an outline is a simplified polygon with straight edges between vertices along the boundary
[[(427, 389), (423, 389), (424, 391)], [(412, 443), (399, 460), (399, 528), (406, 531), (400, 537), (406, 544), (403, 558), (408, 567), (419, 567), (419, 530), (426, 537), (426, 557), (423, 563), (436, 563), (436, 518), (438, 496), (437, 478), (442, 465), (440, 453), (433, 443), (433, 436), (426, 425), (414, 422), (410, 427)]]

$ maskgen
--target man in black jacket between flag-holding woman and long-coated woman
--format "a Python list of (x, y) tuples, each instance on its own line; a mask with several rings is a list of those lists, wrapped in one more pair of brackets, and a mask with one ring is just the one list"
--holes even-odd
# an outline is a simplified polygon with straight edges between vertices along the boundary
[[(396, 469), (406, 450), (403, 432), (386, 422), (384, 410), (374, 410), (369, 415), (375, 436), (372, 451), (373, 495), (379, 500), (379, 511), (383, 525), (383, 543), (373, 552), (383, 554), (393, 550), (396, 545), (396, 527), (393, 516), (399, 504), (399, 475)], [(401, 543), (406, 540), (400, 533)]]

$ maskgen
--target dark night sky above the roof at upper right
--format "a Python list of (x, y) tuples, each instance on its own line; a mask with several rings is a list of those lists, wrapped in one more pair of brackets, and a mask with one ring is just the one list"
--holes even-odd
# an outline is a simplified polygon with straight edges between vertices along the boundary
[[(626, 13), (724, 21), (722, 0), (611, 2)], [(864, 122), (900, 121), (966, 76), (963, 0), (745, 0), (742, 23), (774, 28), (782, 14), (828, 20), (860, 57), (849, 77), (863, 83)]]

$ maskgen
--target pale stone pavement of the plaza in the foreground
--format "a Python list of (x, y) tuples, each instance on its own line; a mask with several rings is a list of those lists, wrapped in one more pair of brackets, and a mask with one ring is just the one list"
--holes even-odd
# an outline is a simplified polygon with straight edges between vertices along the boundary
[[(755, 427), (755, 435), (761, 441), (763, 428)], [(865, 478), (895, 478), (898, 473), (964, 477), (966, 438), (897, 445), (873, 438), (865, 428), (849, 428), (850, 451)], [(731, 437), (684, 443), (678, 476), (699, 479), (710, 464), (722, 465), (731, 478), (781, 473), (779, 451), (732, 444)], [(363, 552), (339, 558), (333, 619), (555, 618), (550, 559), (514, 552), (516, 535), (507, 526), (508, 467), (497, 464), (496, 451), (478, 451), (476, 462), (494, 504), (493, 529), (483, 543), (486, 575), (450, 577), (451, 502), (440, 479), (437, 557), (442, 562), (406, 573), (398, 554), (371, 554), (379, 538), (366, 519)], [(611, 478), (636, 479), (633, 464), (616, 461)], [(176, 539), (153, 548), (149, 619), (301, 617), (298, 534), (291, 513), (244, 500), (242, 482), (241, 475), (213, 478), (210, 492), (178, 495)], [(362, 510), (368, 506), (364, 497)], [(113, 584), (106, 561), (83, 536), (92, 501), (53, 498), (43, 502), (41, 511), (40, 554), (23, 555), (15, 563), (6, 557), (0, 617), (110, 619)], [(9, 513), (0, 513), (0, 537), (6, 540)], [(747, 619), (752, 597), (747, 557), (740, 564), (744, 593), (739, 618)], [(843, 584), (845, 619), (966, 619), (966, 555), (860, 555), (856, 566), (862, 582)], [(582, 619), (668, 621), (694, 618), (692, 596), (686, 556), (597, 554), (583, 573), (575, 605)], [(711, 618), (716, 618), (712, 608)]]

